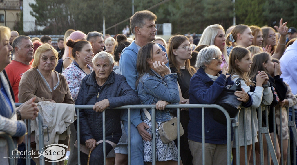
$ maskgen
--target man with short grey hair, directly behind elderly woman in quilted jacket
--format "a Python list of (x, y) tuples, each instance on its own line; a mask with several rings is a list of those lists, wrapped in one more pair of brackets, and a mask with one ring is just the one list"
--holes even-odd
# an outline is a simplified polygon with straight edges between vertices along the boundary
[(87, 41), (91, 42), (91, 46), (93, 48), (93, 53), (96, 55), (100, 51), (103, 51), (104, 49), (104, 40), (103, 40), (103, 34), (99, 32), (89, 32), (87, 35)]

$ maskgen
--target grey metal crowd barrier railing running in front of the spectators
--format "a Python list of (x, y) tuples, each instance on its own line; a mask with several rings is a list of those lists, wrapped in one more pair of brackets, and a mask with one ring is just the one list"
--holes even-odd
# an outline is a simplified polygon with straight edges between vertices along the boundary
[[(93, 105), (75, 105), (75, 109), (77, 111), (77, 141), (78, 141), (78, 144), (80, 144), (80, 117), (79, 117), (79, 109), (92, 109), (93, 108)], [(155, 132), (155, 128), (156, 128), (156, 119), (155, 119), (155, 106), (154, 105), (129, 105), (129, 106), (121, 106), (121, 107), (117, 107), (115, 109), (127, 109), (128, 111), (128, 121), (130, 120), (130, 111), (131, 109), (143, 109), (143, 108), (151, 108), (152, 109), (152, 164), (156, 164), (156, 132)], [(173, 109), (173, 108), (176, 108), (177, 109), (177, 118), (178, 118), (178, 121), (180, 120), (180, 115), (179, 115), (179, 112), (180, 112), (180, 109), (181, 108), (201, 108), (202, 109), (202, 135), (203, 135), (203, 150), (205, 149), (205, 130), (204, 130), (204, 111), (205, 111), (205, 108), (216, 108), (216, 109), (219, 109), (221, 110), (226, 118), (227, 118), (227, 164), (231, 164), (232, 163), (232, 160), (231, 160), (231, 152), (232, 152), (232, 147), (231, 147), (231, 123), (232, 123), (232, 127), (234, 129), (234, 139), (235, 139), (235, 143), (236, 143), (236, 158), (233, 158), (233, 161), (236, 161), (236, 164), (240, 164), (240, 152), (239, 152), (239, 132), (238, 132), (238, 125), (239, 125), (239, 122), (238, 122), (238, 115), (236, 115), (235, 118), (230, 118), (228, 112), (222, 108), (221, 106), (218, 106), (216, 104), (175, 104), (175, 105), (167, 105), (166, 108), (170, 108), (170, 109)], [(265, 112), (266, 112), (266, 116), (268, 116), (268, 107), (265, 106)], [(294, 107), (293, 107), (294, 109)], [(241, 109), (241, 111), (244, 111), (245, 109)], [(272, 158), (272, 162), (274, 164), (278, 164), (278, 161), (277, 161), (277, 156), (276, 156), (276, 152), (275, 152), (275, 143), (276, 143), (276, 137), (274, 136), (274, 142), (272, 142), (271, 140), (271, 137), (270, 137), (270, 134), (269, 134), (269, 130), (268, 130), (268, 127), (263, 127), (262, 126), (262, 107), (259, 107), (258, 109), (258, 122), (259, 122), (259, 144), (260, 144), (260, 164), (264, 164), (264, 158), (263, 158), (263, 152), (264, 152), (264, 149), (263, 149), (263, 134), (265, 135), (266, 139), (267, 139), (267, 150), (268, 150), (268, 162), (269, 162), (269, 153), (271, 154), (271, 158)], [(105, 111), (102, 112), (103, 113), (103, 117), (102, 117), (102, 120), (103, 120), (103, 135), (105, 135)], [(239, 112), (238, 112), (239, 113)], [(273, 113), (274, 115), (274, 124), (272, 127), (274, 127), (274, 135), (275, 134), (275, 131), (276, 131), (276, 123), (275, 123), (275, 110), (273, 109), (272, 112), (270, 113)], [(287, 113), (288, 113), (288, 116), (289, 116), (289, 112), (288, 112), (288, 108), (287, 108)], [(296, 125), (295, 125), (295, 119), (294, 119), (294, 111), (293, 111), (293, 119), (292, 121), (289, 121), (288, 122), (288, 125), (289, 127), (293, 128), (293, 133), (294, 133), (294, 143), (296, 143), (297, 145), (297, 130), (296, 130)], [(252, 121), (253, 121), (253, 111), (251, 110), (251, 117), (252, 117)], [(43, 134), (43, 129), (41, 129), (42, 127), (42, 119), (41, 117), (39, 117), (39, 134), (42, 135)], [(244, 117), (245, 119), (245, 117)], [(288, 120), (289, 120), (289, 117), (288, 117)], [(30, 121), (28, 121), (30, 123)], [(268, 120), (266, 120), (266, 125), (268, 126)], [(282, 128), (282, 114), (280, 112), (280, 127)], [(252, 125), (254, 125), (254, 123), (252, 123)], [(178, 126), (179, 128), (179, 122), (178, 122)], [(244, 126), (245, 128), (246, 126)], [(253, 128), (253, 127), (252, 127)], [(282, 130), (282, 129), (280, 129)], [(28, 130), (29, 131), (29, 130)], [(177, 130), (178, 131), (178, 135), (179, 135), (179, 129)], [(253, 132), (253, 130), (252, 130)], [(40, 136), (40, 137), (43, 137), (43, 136)], [(254, 135), (252, 135), (252, 137), (254, 137)], [(244, 132), (244, 140), (246, 141), (246, 132)], [(289, 137), (290, 138), (290, 137)], [(130, 147), (130, 122), (128, 122), (128, 164), (131, 164), (131, 147)], [(254, 141), (254, 138), (252, 138), (253, 140), (253, 147), (252, 147), (252, 156), (253, 156), (253, 164), (256, 164), (255, 163), (255, 141)], [(281, 139), (281, 143), (280, 143), (280, 148), (281, 148), (281, 164), (283, 164), (283, 151), (282, 151), (282, 146), (283, 146), (283, 143), (282, 143), (282, 133), (280, 134), (280, 139)], [(30, 137), (28, 139), (26, 139), (30, 142)], [(43, 143), (41, 143), (41, 140), (43, 140), (43, 138), (40, 138), (40, 150), (41, 148), (43, 148)], [(27, 142), (28, 142), (27, 141)], [(179, 159), (180, 159), (180, 137), (178, 136), (178, 156), (179, 156)], [(290, 143), (290, 139), (288, 140), (288, 143)], [(288, 144), (289, 145), (289, 144)], [(30, 148), (30, 143), (28, 144), (28, 146), (26, 145), (26, 147)], [(27, 149), (27, 148), (26, 148)], [(31, 149), (31, 148), (30, 148)], [(29, 150), (28, 150), (29, 151)], [(78, 151), (80, 151), (80, 145), (78, 145)], [(287, 156), (287, 163), (290, 162), (290, 145), (288, 146), (288, 156)], [(295, 151), (295, 150), (294, 150)], [(103, 136), (103, 155), (104, 157), (106, 157), (107, 153), (105, 151), (105, 136)], [(295, 155), (294, 155), (295, 157)], [(245, 164), (247, 164), (247, 144), (245, 142)], [(80, 152), (78, 152), (78, 164), (80, 164)], [(202, 163), (205, 164), (205, 153), (203, 152), (203, 160), (202, 160)], [(30, 164), (30, 160), (27, 161), (27, 164)], [(42, 161), (42, 159), (40, 159), (40, 164), (44, 164), (44, 161)], [(105, 162), (105, 159), (104, 159), (104, 164), (106, 164)], [(180, 164), (180, 161), (178, 161), (178, 164)], [(294, 160), (294, 164), (296, 164), (296, 160)]]

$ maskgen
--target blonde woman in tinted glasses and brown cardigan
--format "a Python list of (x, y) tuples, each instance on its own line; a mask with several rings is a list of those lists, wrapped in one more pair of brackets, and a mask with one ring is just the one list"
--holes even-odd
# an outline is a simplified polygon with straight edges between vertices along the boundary
[[(58, 52), (48, 43), (37, 48), (32, 63), (33, 68), (27, 70), (20, 80), (18, 94), (20, 103), (35, 97), (35, 103), (50, 101), (74, 104), (65, 77), (54, 71), (58, 62), (57, 58)], [(68, 145), (68, 142), (68, 135), (59, 137), (59, 144)], [(67, 148), (64, 149), (67, 150)], [(36, 148), (32, 150), (36, 151)], [(39, 158), (33, 159), (39, 162)], [(59, 161), (58, 164), (64, 164), (64, 161)]]

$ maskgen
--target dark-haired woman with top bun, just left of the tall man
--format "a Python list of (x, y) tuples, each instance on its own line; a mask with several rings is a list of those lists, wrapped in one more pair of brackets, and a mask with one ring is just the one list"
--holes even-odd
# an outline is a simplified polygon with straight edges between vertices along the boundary
[(124, 34), (119, 34), (116, 36), (116, 45), (113, 48), (113, 54), (114, 54), (114, 61), (116, 64), (113, 67), (113, 71), (121, 74), (120, 70), (120, 58), (121, 53), (124, 48), (130, 45), (130, 42), (127, 40), (127, 37)]

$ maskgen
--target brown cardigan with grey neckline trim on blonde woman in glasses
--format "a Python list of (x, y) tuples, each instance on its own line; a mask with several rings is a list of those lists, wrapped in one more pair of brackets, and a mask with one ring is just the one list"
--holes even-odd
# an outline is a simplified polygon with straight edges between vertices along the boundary
[(38, 103), (39, 101), (50, 101), (50, 99), (52, 99), (56, 101), (56, 103), (74, 104), (65, 77), (59, 73), (58, 76), (59, 81), (54, 89), (52, 97), (52, 93), (37, 71), (37, 68), (27, 70), (20, 80), (18, 94), (19, 102), (24, 103), (30, 98), (36, 97), (34, 101), (35, 103)]

